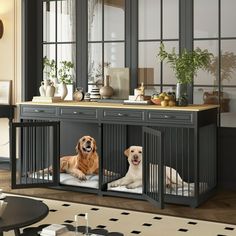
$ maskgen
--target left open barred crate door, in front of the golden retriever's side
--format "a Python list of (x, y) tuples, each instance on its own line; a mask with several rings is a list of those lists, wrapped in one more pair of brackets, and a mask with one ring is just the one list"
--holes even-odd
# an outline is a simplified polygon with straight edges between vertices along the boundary
[(59, 122), (12, 123), (12, 188), (58, 184), (59, 137)]

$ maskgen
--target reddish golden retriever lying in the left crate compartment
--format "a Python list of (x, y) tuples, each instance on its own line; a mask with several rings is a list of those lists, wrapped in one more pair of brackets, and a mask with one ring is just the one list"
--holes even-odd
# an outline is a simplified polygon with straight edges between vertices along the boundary
[[(95, 139), (83, 136), (78, 140), (75, 149), (76, 155), (60, 158), (60, 172), (71, 174), (79, 180), (86, 180), (86, 175), (98, 174), (99, 157)], [(40, 170), (39, 173), (52, 173), (52, 166)]]

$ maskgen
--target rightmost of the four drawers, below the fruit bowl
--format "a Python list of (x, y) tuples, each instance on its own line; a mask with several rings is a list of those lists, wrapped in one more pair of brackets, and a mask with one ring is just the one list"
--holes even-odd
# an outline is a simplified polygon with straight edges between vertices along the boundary
[(149, 122), (166, 124), (193, 124), (192, 112), (148, 111)]

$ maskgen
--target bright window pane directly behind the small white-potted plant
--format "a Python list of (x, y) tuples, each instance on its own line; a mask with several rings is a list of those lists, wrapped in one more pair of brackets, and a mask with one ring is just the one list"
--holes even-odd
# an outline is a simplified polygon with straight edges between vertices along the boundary
[(62, 61), (72, 62), (74, 64), (73, 80), (75, 81), (75, 75), (76, 75), (75, 73), (76, 45), (75, 44), (59, 44), (57, 46), (57, 68), (58, 69), (60, 69)]

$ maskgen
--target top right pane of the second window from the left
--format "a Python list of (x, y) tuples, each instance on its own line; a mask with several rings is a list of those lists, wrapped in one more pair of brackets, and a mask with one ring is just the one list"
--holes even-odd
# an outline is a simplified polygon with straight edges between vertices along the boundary
[(104, 39), (124, 40), (125, 1), (104, 0)]

